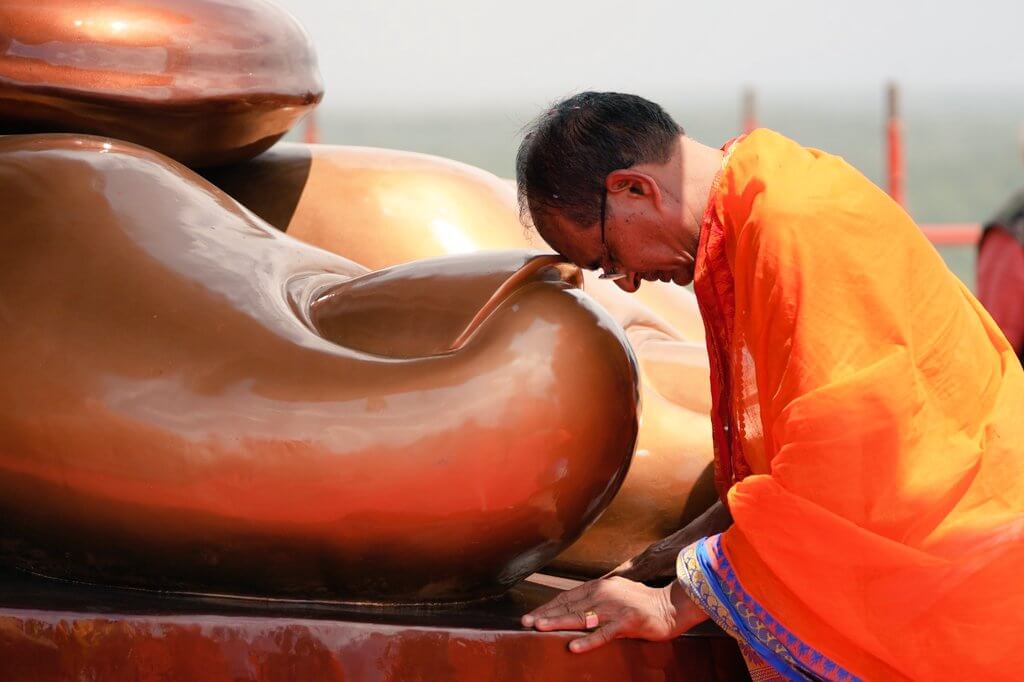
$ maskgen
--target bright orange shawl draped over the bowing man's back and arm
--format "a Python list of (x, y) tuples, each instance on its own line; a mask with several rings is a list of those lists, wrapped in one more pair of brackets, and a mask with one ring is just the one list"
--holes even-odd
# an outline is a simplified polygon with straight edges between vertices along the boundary
[(742, 588), (866, 679), (1024, 675), (1024, 373), (910, 217), (757, 130), (694, 290)]

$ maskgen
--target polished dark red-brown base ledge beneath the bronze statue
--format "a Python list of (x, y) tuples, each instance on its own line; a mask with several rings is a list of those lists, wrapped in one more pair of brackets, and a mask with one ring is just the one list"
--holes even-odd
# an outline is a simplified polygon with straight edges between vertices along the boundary
[(444, 608), (338, 607), (165, 596), (0, 572), (4, 682), (305, 682), (749, 679), (735, 640), (702, 626), (671, 642), (584, 655), (570, 633), (523, 631), (555, 596), (529, 582)]

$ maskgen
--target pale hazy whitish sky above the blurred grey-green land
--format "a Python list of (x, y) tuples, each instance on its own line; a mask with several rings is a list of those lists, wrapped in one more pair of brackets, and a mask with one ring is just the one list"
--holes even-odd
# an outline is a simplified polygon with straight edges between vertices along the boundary
[(536, 105), (582, 89), (1024, 90), (1024, 0), (278, 0), (327, 109)]

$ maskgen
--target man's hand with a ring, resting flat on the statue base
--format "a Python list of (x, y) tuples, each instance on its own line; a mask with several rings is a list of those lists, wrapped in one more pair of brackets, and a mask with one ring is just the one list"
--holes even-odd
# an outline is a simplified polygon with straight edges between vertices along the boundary
[(596, 628), (569, 642), (570, 651), (583, 653), (618, 638), (672, 639), (707, 617), (677, 581), (649, 588), (623, 578), (602, 578), (563, 592), (522, 616), (522, 625), (542, 632)]

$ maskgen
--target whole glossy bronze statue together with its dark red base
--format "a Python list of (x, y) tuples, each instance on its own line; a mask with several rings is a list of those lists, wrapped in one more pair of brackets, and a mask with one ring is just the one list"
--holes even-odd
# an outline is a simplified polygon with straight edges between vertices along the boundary
[(519, 625), (714, 497), (692, 297), (523, 251), (454, 162), (215, 168), (322, 94), (265, 0), (0, 0), (0, 677), (733, 679)]

